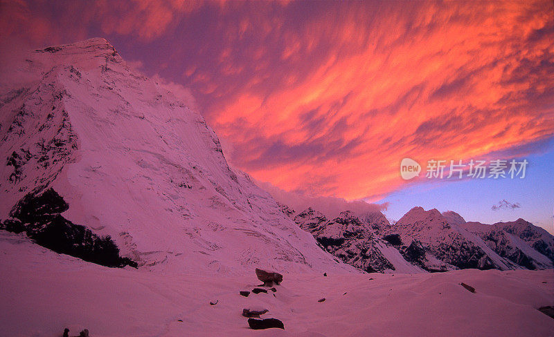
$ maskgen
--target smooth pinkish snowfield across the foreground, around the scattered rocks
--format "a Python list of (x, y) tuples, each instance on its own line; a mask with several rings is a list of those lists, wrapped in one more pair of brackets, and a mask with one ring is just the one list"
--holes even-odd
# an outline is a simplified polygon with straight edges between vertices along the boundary
[[(86, 327), (91, 337), (554, 334), (554, 320), (537, 310), (554, 305), (553, 270), (285, 274), (276, 297), (244, 298), (238, 291), (258, 284), (253, 271), (218, 278), (109, 269), (5, 232), (0, 256), (1, 336), (61, 336), (64, 327), (71, 336)], [(265, 318), (283, 320), (285, 330), (249, 329), (243, 308), (269, 309)]]

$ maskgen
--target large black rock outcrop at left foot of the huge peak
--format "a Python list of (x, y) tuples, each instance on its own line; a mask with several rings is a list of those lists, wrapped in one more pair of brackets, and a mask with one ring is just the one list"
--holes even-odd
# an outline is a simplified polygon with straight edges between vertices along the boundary
[(10, 219), (3, 222), (7, 231), (21, 233), (56, 253), (75, 256), (106, 267), (137, 267), (136, 262), (119, 256), (109, 236), (100, 237), (87, 227), (66, 220), (60, 213), (69, 205), (53, 189), (27, 194), (14, 206)]

